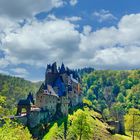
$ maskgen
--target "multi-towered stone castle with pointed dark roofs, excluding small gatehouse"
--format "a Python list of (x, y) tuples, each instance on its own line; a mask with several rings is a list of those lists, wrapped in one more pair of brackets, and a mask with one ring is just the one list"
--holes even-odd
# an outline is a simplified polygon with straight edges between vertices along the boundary
[(69, 108), (82, 103), (80, 77), (77, 72), (56, 62), (47, 65), (45, 81), (36, 94), (36, 106), (50, 115), (67, 115)]

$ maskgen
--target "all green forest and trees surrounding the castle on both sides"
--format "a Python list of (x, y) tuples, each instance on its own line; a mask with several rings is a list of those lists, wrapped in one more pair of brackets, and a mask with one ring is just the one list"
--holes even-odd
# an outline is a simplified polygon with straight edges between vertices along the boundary
[[(49, 124), (44, 140), (135, 140), (140, 139), (140, 70), (78, 70), (82, 78), (83, 106)], [(15, 113), (16, 103), (40, 83), (0, 75), (0, 116)], [(120, 134), (108, 122), (121, 122)], [(14, 136), (14, 137), (13, 137)], [(24, 126), (6, 119), (0, 139), (33, 139)]]

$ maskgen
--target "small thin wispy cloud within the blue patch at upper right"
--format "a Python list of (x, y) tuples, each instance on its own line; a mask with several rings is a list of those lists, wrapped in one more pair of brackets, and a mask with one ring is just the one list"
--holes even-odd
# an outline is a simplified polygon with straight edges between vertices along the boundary
[(117, 19), (110, 11), (104, 9), (93, 12), (93, 16), (96, 17), (99, 22)]

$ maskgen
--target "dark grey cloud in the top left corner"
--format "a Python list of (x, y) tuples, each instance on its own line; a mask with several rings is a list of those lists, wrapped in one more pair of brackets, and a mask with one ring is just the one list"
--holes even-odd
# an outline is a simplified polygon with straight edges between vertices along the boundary
[(10, 19), (25, 19), (63, 4), (63, 0), (0, 0), (0, 15)]

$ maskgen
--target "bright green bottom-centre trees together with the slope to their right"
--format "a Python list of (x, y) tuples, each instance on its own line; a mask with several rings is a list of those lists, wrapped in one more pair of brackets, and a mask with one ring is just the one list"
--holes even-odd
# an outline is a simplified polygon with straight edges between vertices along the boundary
[[(113, 140), (114, 137), (107, 131), (107, 124), (98, 120), (102, 116), (89, 108), (78, 109), (68, 116), (66, 134), (64, 124), (54, 123), (43, 140)], [(115, 139), (119, 140), (119, 139)]]

